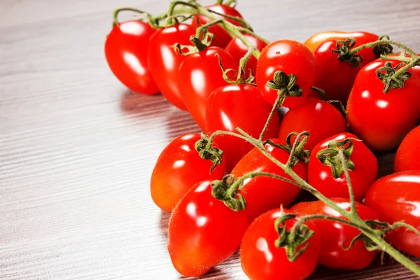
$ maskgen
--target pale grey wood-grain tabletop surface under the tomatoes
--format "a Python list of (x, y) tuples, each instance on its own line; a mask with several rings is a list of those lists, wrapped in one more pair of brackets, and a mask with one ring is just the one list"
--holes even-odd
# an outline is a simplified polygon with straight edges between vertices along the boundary
[[(417, 0), (239, 2), (269, 40), (363, 29), (420, 49)], [(179, 278), (166, 250), (169, 214), (148, 183), (162, 148), (199, 129), (162, 96), (127, 91), (103, 53), (114, 8), (160, 13), (167, 3), (1, 0), (0, 279)], [(392, 154), (380, 162), (391, 172)], [(246, 276), (236, 254), (205, 278)], [(389, 261), (312, 276), (338, 278), (416, 277)]]

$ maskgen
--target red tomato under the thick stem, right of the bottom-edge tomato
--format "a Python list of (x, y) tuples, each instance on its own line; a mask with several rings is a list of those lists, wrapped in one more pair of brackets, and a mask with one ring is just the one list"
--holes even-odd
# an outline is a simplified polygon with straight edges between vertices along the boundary
[[(349, 211), (351, 206), (347, 199), (333, 199), (340, 208)], [(299, 216), (321, 214), (336, 218), (344, 218), (337, 211), (326, 206), (320, 200), (316, 202), (300, 202), (290, 209)], [(377, 220), (377, 214), (369, 207), (356, 202), (358, 216), (365, 220)], [(339, 222), (316, 219), (312, 220), (321, 236), (321, 251), (318, 262), (326, 267), (335, 269), (356, 270), (370, 265), (375, 251), (368, 251), (363, 241), (358, 240), (353, 247), (348, 248), (351, 240), (360, 234), (360, 230)], [(344, 246), (344, 248), (343, 248)]]

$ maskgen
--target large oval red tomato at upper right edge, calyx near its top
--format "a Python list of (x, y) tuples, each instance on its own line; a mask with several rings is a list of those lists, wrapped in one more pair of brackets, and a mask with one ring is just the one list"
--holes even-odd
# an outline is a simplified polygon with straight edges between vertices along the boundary
[[(400, 63), (388, 62), (392, 66)], [(372, 62), (360, 70), (347, 104), (350, 130), (374, 151), (396, 148), (420, 116), (419, 78), (412, 73), (402, 89), (393, 88), (385, 94), (384, 83), (375, 73), (384, 65), (384, 61)]]

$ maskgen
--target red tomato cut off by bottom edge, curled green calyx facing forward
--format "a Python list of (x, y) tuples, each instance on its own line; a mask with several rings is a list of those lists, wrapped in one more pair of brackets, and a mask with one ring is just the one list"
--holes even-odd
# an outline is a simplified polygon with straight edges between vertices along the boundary
[[(305, 222), (309, 230), (315, 234), (307, 241), (309, 246), (294, 262), (290, 262), (284, 248), (275, 246), (279, 234), (276, 232), (274, 223), (284, 213), (290, 213), (274, 209), (262, 214), (251, 223), (246, 230), (241, 243), (241, 265), (245, 274), (251, 280), (291, 280), (305, 279), (316, 267), (318, 262), (321, 237), (318, 235), (314, 223)], [(286, 221), (286, 229), (290, 228), (295, 220)], [(297, 247), (300, 250), (304, 246)]]

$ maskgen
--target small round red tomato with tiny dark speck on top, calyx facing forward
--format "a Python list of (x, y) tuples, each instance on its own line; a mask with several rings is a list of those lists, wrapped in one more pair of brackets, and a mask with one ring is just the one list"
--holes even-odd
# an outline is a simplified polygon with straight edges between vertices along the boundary
[(292, 40), (276, 41), (262, 50), (255, 78), (262, 98), (269, 104), (274, 104), (277, 99), (277, 90), (267, 87), (267, 82), (273, 80), (276, 71), (287, 75), (293, 73), (297, 78), (295, 84), (302, 89), (300, 97), (287, 97), (282, 106), (293, 108), (303, 104), (315, 76), (315, 57), (311, 50)]

